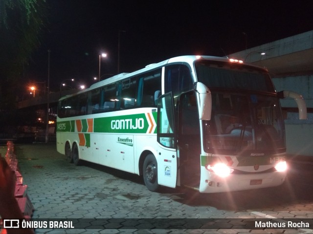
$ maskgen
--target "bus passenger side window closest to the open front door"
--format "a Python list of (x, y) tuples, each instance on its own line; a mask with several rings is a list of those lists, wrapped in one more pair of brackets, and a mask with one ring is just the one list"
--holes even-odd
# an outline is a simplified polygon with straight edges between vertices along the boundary
[(138, 82), (137, 106), (154, 107), (157, 104), (157, 91), (161, 90), (161, 69), (142, 75)]

